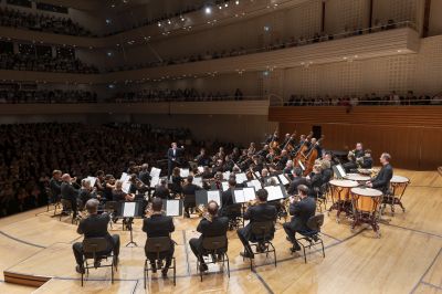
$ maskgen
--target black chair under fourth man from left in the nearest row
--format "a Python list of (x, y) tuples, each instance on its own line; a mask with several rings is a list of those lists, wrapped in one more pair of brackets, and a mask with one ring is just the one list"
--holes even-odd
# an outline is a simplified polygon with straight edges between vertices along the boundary
[[(256, 221), (252, 222), (252, 237), (253, 241), (250, 241), (250, 245), (255, 248), (254, 254), (265, 254), (269, 256), (269, 253), (273, 252), (274, 263), (276, 267), (276, 250), (272, 243), (273, 240), (273, 230), (275, 228), (274, 221)], [(257, 248), (263, 246), (264, 250), (259, 251)], [(253, 249), (252, 249), (253, 250)], [(244, 255), (245, 255), (244, 249)], [(244, 260), (244, 259), (243, 259)], [(250, 259), (250, 270), (253, 270), (252, 259)]]

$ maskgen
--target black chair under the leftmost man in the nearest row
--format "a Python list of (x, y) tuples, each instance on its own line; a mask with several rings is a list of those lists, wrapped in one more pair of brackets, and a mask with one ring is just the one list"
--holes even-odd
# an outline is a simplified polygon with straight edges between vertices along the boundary
[[(82, 272), (82, 286), (84, 283), (84, 274), (88, 276), (90, 269), (98, 269), (98, 267), (110, 267), (110, 281), (114, 284), (114, 267), (117, 271), (117, 260), (113, 252), (107, 251), (107, 240), (105, 238), (87, 238), (83, 240), (83, 266), (85, 272)], [(112, 258), (110, 264), (101, 264), (102, 260), (106, 260)], [(87, 260), (93, 259), (94, 263), (88, 264)]]

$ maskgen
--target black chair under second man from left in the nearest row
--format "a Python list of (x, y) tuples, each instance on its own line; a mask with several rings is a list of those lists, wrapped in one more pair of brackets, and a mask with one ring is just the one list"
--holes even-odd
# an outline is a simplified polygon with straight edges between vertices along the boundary
[[(156, 254), (156, 260), (161, 260), (161, 253), (165, 254), (166, 252), (170, 251), (172, 240), (170, 237), (156, 237), (156, 238), (148, 238), (146, 240), (146, 245), (145, 245), (145, 252), (147, 254), (149, 253), (155, 253)], [(154, 261), (154, 262), (155, 262)], [(173, 286), (177, 285), (177, 264), (176, 260), (172, 256), (172, 266), (169, 266), (168, 269), (173, 270)], [(145, 288), (146, 288), (146, 283), (149, 277), (149, 271), (152, 271), (154, 269), (151, 267), (149, 263), (148, 256), (146, 256), (145, 261), (145, 267), (144, 267), (144, 276), (145, 276)]]

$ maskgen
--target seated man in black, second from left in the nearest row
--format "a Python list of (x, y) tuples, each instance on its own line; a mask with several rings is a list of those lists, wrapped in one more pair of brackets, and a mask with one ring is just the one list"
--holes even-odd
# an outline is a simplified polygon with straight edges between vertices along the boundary
[[(143, 221), (143, 231), (146, 232), (147, 238), (170, 237), (170, 233), (175, 231), (173, 219), (162, 214), (162, 199), (155, 197), (151, 208), (151, 216)], [(175, 242), (171, 239), (170, 242), (170, 251), (161, 253), (159, 255), (160, 260), (157, 260), (156, 253), (145, 252), (146, 258), (150, 261), (154, 273), (157, 272), (157, 269), (159, 270), (162, 267), (161, 260), (166, 259), (165, 267), (161, 270), (162, 276), (167, 276), (175, 252)]]

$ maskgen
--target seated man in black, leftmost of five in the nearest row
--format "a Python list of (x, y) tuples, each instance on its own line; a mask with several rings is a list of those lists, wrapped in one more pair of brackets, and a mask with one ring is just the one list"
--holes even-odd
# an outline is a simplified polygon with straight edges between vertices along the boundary
[[(113, 234), (110, 235), (107, 231), (107, 225), (110, 221), (109, 214), (106, 212), (98, 214), (98, 200), (90, 199), (86, 202), (86, 210), (88, 212), (88, 217), (80, 221), (78, 228), (76, 232), (78, 234), (84, 234), (84, 239), (87, 238), (105, 238), (107, 240), (107, 250), (105, 252), (99, 252), (102, 255), (109, 254), (114, 252), (115, 261), (118, 261), (119, 254), (119, 235)], [(84, 273), (83, 265), (83, 243), (76, 242), (72, 245), (74, 251), (75, 261), (76, 261), (76, 272)], [(98, 254), (98, 255), (99, 255)], [(99, 261), (95, 261), (99, 262)]]

